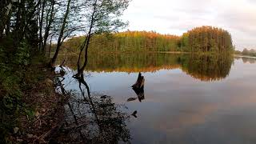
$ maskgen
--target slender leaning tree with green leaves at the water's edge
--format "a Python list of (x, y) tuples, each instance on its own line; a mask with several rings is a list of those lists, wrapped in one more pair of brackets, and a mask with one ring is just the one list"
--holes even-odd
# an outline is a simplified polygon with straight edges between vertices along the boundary
[[(86, 38), (79, 48), (78, 74), (75, 74), (77, 78), (83, 77), (83, 70), (86, 68), (90, 38), (94, 34), (109, 33), (126, 26), (126, 23), (122, 22), (119, 17), (123, 10), (126, 10), (128, 4), (129, 0), (92, 0), (86, 2)], [(84, 61), (81, 65), (83, 51), (85, 51)]]

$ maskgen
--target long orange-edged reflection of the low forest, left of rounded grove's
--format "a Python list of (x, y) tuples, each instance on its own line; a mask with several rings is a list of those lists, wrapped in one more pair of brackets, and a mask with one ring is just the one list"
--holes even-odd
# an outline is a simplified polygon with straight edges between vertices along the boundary
[[(74, 55), (70, 55), (70, 60)], [(89, 63), (86, 70), (95, 72), (154, 72), (161, 69), (174, 69), (178, 68), (177, 58), (180, 55), (174, 54), (160, 54), (160, 53), (118, 53), (118, 54), (90, 54)], [(58, 62), (62, 62), (63, 56), (59, 57)], [(76, 61), (68, 61), (67, 66), (76, 68)]]

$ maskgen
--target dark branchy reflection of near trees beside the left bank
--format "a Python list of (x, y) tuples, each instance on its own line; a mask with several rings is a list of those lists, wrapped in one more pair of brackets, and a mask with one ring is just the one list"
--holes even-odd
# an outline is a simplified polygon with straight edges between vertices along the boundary
[(66, 105), (66, 124), (58, 139), (83, 143), (129, 142), (130, 131), (126, 128), (129, 116), (118, 110), (110, 96), (91, 95), (87, 83), (83, 79), (78, 82), (80, 92)]

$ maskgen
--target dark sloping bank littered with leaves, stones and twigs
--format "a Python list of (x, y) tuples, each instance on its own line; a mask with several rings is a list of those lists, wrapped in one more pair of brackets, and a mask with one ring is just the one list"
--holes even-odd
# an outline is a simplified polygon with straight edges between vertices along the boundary
[(47, 143), (50, 142), (64, 118), (66, 96), (56, 93), (56, 74), (47, 67), (45, 59), (32, 59), (21, 89), (22, 110), (6, 128), (6, 142)]

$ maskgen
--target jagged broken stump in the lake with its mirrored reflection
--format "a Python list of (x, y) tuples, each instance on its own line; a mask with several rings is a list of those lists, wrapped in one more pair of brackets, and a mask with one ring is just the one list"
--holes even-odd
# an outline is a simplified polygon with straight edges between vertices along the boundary
[(145, 78), (142, 76), (142, 73), (140, 72), (138, 74), (137, 81), (132, 86), (134, 92), (138, 95), (139, 102), (142, 102), (142, 100), (145, 99), (144, 82), (145, 82)]

